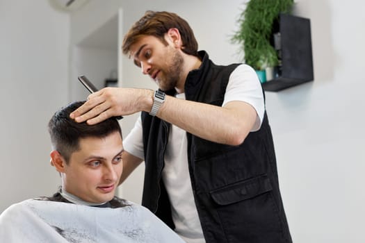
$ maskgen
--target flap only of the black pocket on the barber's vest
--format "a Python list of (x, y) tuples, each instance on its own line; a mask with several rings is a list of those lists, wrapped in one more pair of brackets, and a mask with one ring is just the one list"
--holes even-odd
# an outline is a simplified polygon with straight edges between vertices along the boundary
[(264, 174), (213, 190), (210, 194), (213, 201), (220, 206), (225, 206), (250, 199), (271, 190), (273, 190), (273, 187), (271, 187), (270, 179)]

